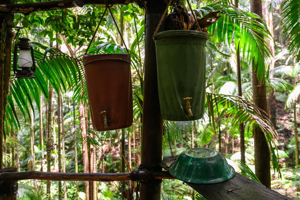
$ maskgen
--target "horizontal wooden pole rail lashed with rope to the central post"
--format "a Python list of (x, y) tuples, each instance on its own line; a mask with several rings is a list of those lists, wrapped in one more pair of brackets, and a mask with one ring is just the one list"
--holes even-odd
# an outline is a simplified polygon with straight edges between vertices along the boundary
[[(4, 169), (5, 170), (5, 169)], [(139, 172), (139, 178), (144, 179), (146, 173), (143, 171)], [(170, 175), (169, 172), (153, 172), (153, 178), (155, 179), (175, 179)], [(47, 181), (129, 181), (130, 172), (125, 173), (57, 173), (57, 172), (1, 172), (0, 171), (0, 182), (1, 181), (12, 181), (12, 180), (47, 180)]]

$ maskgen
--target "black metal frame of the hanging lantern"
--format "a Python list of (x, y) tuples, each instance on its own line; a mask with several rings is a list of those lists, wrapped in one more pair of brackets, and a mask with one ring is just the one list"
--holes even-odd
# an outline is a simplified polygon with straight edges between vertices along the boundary
[[(34, 75), (36, 67), (34, 61), (33, 47), (30, 45), (29, 41), (30, 40), (28, 38), (19, 38), (19, 42), (15, 44), (15, 49), (13, 51), (13, 71), (16, 74), (15, 78), (22, 78), (22, 79), (36, 78)], [(19, 66), (21, 69), (17, 69), (18, 49), (31, 51), (32, 67), (28, 68), (28, 67)]]

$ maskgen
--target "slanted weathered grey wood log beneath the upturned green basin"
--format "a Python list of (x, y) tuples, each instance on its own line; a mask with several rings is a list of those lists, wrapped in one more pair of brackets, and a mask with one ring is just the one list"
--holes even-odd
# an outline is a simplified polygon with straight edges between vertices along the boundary
[[(176, 161), (177, 156), (165, 157), (159, 163), (161, 167), (169, 170), (170, 164)], [(291, 198), (279, 194), (274, 190), (259, 184), (252, 179), (237, 172), (228, 181), (215, 184), (193, 184), (186, 183), (207, 200), (292, 200)]]

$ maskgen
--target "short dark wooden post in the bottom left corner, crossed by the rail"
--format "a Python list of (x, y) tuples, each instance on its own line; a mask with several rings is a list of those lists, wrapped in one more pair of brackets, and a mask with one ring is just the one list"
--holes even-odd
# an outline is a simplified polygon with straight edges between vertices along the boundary
[[(17, 168), (4, 168), (0, 169), (1, 172), (17, 172)], [(0, 200), (16, 200), (17, 199), (17, 187), (16, 181), (0, 181)]]

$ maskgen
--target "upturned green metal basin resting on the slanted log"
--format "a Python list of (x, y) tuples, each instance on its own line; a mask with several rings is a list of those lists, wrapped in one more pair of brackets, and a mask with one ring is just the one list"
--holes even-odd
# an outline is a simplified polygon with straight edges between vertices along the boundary
[(192, 148), (178, 156), (170, 167), (170, 173), (184, 182), (211, 184), (232, 178), (234, 169), (220, 152), (209, 148)]

